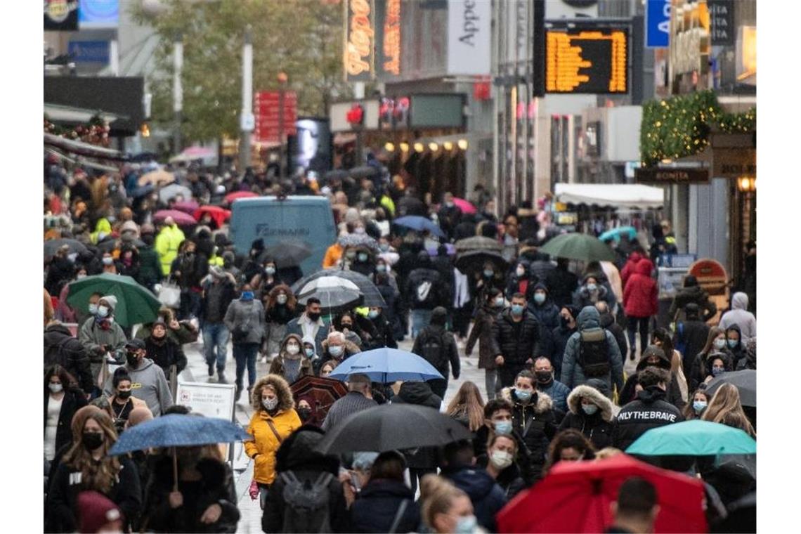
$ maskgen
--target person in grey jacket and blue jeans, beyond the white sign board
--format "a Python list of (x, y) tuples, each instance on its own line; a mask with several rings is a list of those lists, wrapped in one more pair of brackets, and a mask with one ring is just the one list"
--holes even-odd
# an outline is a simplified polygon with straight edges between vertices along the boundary
[(253, 298), (250, 284), (242, 287), (242, 295), (231, 301), (223, 318), (231, 332), (236, 360), (236, 400), (242, 396), (245, 367), (248, 368), (248, 394), (256, 383), (256, 355), (264, 337), (264, 307)]

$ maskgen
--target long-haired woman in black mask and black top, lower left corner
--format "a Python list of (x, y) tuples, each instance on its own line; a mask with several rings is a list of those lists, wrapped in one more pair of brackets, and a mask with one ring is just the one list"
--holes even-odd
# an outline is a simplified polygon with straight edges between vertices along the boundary
[(47, 496), (47, 532), (78, 529), (78, 493), (103, 493), (130, 522), (142, 507), (139, 476), (128, 456), (109, 456), (117, 441), (114, 422), (106, 412), (92, 412), (80, 429), (80, 438), (66, 452)]

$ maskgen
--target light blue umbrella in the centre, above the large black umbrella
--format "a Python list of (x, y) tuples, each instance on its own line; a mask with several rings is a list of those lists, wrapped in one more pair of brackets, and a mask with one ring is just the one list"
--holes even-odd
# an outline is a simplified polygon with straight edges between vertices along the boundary
[(348, 375), (361, 373), (373, 382), (388, 383), (396, 380), (425, 382), (443, 376), (434, 366), (412, 352), (396, 348), (376, 348), (359, 352), (336, 366), (328, 378), (347, 380)]

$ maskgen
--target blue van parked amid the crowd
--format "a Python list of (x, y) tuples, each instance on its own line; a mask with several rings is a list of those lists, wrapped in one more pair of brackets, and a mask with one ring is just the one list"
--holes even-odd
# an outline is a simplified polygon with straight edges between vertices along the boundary
[(256, 239), (270, 247), (298, 241), (312, 249), (300, 264), (304, 275), (320, 271), (325, 251), (336, 241), (336, 225), (328, 199), (320, 196), (262, 196), (237, 199), (231, 206), (229, 237), (237, 254), (247, 255)]

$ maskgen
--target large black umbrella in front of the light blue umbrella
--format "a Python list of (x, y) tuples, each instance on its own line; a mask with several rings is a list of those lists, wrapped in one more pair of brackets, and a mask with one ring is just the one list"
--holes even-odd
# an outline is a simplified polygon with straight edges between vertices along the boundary
[(382, 404), (348, 416), (317, 446), (324, 454), (353, 451), (384, 452), (417, 447), (441, 447), (471, 440), (464, 425), (428, 406)]

